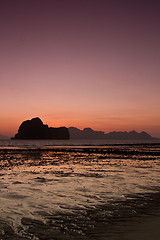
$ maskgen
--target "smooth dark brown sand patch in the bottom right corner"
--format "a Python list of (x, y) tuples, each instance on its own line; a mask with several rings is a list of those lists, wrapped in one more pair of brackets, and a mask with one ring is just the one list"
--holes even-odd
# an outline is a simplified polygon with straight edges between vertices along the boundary
[(143, 216), (106, 227), (98, 226), (90, 239), (95, 240), (159, 240), (160, 215)]

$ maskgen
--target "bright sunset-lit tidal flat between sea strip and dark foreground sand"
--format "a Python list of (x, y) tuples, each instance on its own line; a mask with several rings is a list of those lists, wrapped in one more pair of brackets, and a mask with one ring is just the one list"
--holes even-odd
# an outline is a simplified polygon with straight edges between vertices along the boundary
[(150, 201), (159, 160), (155, 146), (1, 150), (1, 218), (15, 229), (26, 229), (25, 216), (83, 236), (96, 221), (134, 215)]

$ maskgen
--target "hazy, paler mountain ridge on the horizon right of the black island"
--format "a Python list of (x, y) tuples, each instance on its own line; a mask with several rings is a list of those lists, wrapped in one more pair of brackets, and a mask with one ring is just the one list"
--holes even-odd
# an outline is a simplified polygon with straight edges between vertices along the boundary
[(69, 134), (71, 139), (95, 139), (95, 140), (151, 140), (155, 139), (146, 132), (138, 133), (136, 131), (130, 132), (110, 132), (104, 133), (102, 131), (94, 131), (91, 128), (84, 128), (80, 130), (75, 127), (70, 127)]

